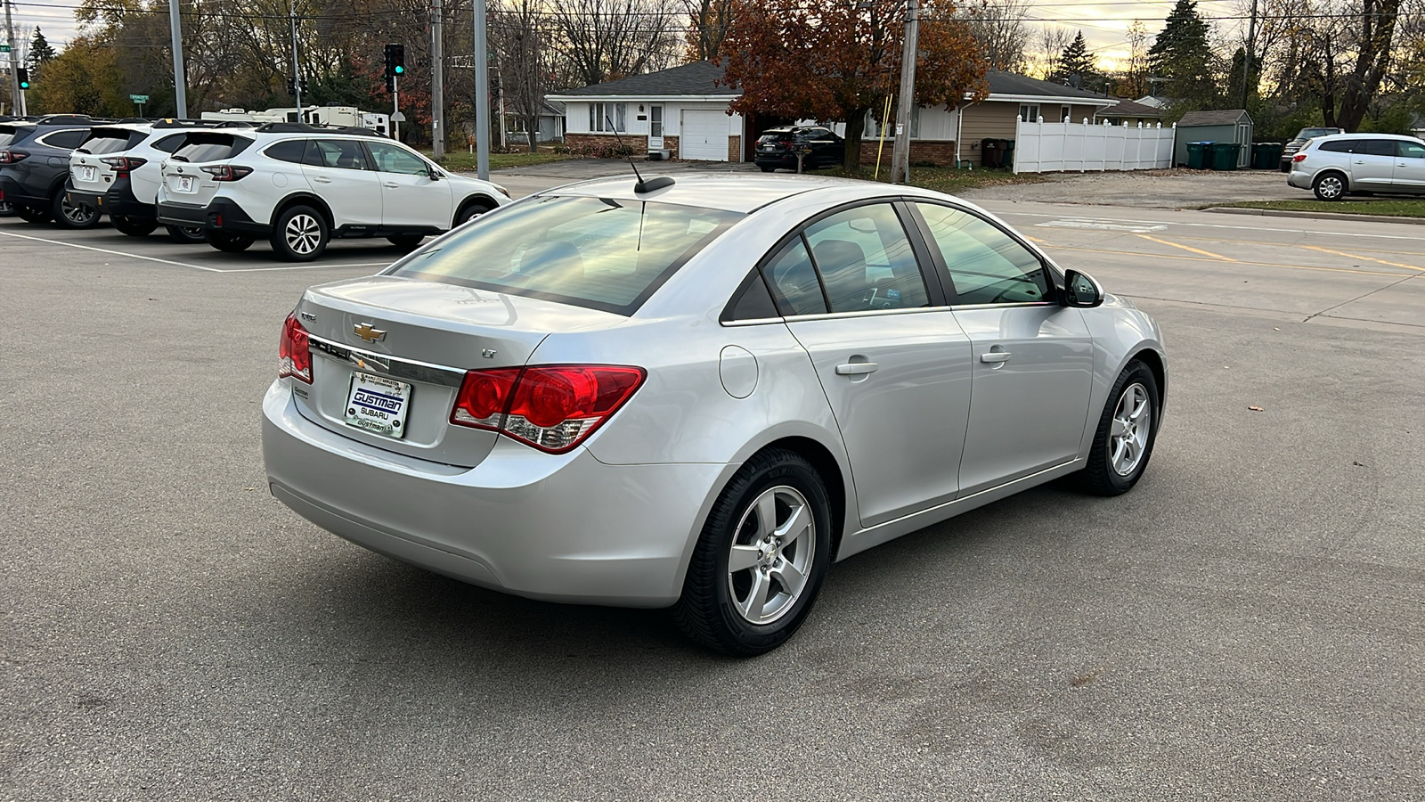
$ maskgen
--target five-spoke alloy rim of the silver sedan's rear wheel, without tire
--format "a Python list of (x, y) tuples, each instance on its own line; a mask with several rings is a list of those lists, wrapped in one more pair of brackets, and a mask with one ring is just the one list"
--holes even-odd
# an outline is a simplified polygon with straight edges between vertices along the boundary
[(817, 522), (794, 487), (762, 491), (742, 512), (727, 558), (732, 606), (750, 624), (787, 615), (807, 588), (817, 549)]

